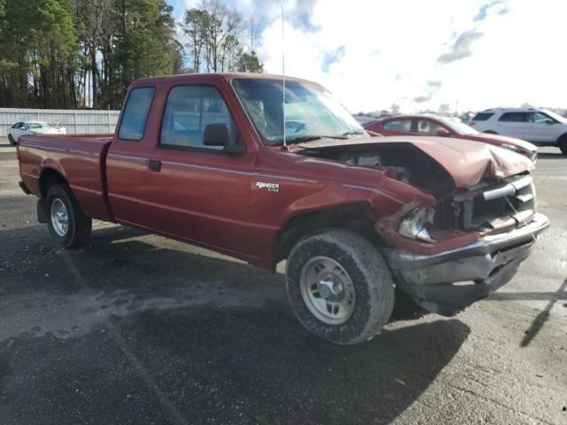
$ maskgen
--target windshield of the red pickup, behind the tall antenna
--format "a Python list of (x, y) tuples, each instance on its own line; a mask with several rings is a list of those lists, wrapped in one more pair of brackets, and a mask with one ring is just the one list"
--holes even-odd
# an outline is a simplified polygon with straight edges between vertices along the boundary
[(283, 143), (283, 116), (289, 143), (367, 135), (343, 105), (314, 83), (285, 81), (284, 111), (283, 81), (236, 79), (232, 85), (265, 144)]

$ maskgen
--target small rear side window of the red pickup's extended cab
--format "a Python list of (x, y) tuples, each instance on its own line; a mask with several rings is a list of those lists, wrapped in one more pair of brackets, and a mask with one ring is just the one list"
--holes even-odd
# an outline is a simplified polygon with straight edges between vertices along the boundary
[(145, 131), (145, 122), (150, 112), (151, 100), (156, 89), (153, 87), (143, 87), (130, 91), (122, 120), (118, 137), (123, 140), (142, 140)]

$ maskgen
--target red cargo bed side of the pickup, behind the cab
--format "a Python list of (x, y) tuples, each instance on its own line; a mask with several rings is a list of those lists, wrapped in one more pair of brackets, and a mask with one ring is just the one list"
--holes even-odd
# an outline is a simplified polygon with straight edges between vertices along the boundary
[(112, 141), (113, 135), (23, 135), (18, 143), (22, 181), (43, 198), (40, 177), (55, 169), (89, 217), (112, 220), (105, 191), (106, 152)]

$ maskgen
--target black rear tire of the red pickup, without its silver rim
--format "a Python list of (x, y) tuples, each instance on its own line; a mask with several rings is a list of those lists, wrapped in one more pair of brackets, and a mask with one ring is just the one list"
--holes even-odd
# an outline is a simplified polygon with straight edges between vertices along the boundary
[[(51, 213), (53, 205), (58, 202), (65, 205), (66, 209), (66, 231), (62, 233), (58, 227), (57, 219)], [(45, 197), (45, 214), (47, 217), (47, 227), (50, 229), (51, 237), (55, 242), (64, 248), (72, 248), (89, 236), (92, 230), (92, 219), (87, 217), (75, 199), (73, 192), (66, 184), (51, 186)]]

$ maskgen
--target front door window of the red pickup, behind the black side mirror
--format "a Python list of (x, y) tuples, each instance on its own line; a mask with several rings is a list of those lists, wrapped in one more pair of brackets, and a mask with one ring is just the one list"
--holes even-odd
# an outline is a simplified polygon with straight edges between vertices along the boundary
[(236, 144), (237, 126), (219, 90), (212, 86), (176, 86), (167, 96), (159, 144), (221, 151), (223, 146), (204, 144), (203, 135), (209, 124), (226, 125), (230, 144)]

